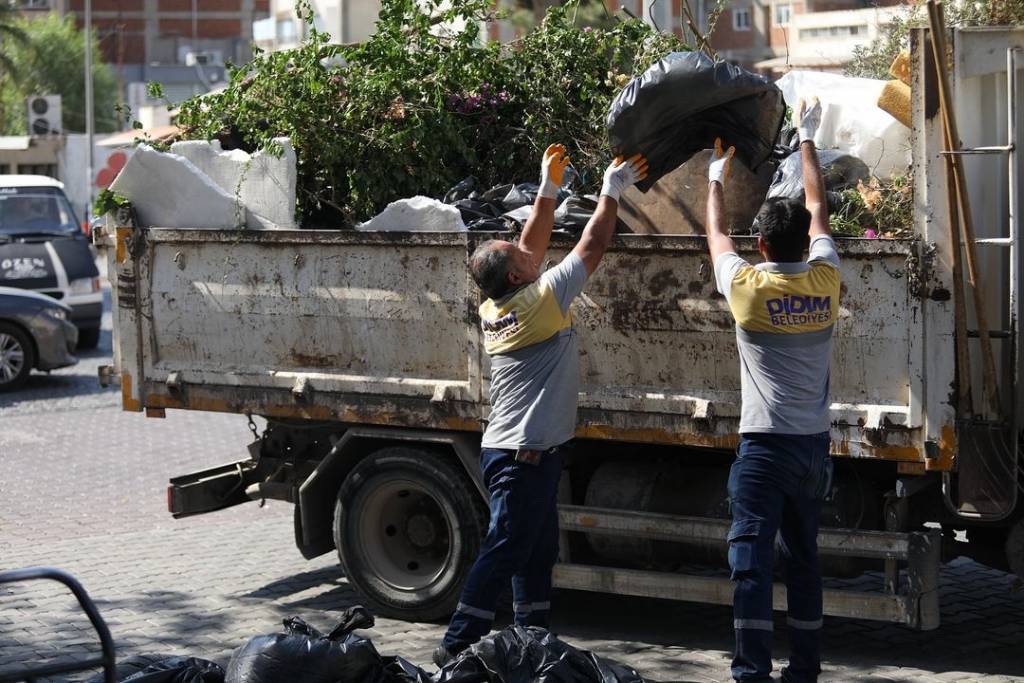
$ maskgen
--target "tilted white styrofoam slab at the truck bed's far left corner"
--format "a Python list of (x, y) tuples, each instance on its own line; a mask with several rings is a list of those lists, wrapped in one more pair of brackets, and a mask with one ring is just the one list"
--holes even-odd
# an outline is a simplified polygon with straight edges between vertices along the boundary
[(111, 183), (111, 190), (132, 203), (145, 226), (205, 229), (267, 226), (190, 161), (145, 144), (135, 150)]

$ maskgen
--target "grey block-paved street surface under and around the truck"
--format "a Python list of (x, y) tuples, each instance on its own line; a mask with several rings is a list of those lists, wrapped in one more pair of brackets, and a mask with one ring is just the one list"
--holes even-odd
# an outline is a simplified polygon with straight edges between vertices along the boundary
[[(108, 321), (109, 327), (109, 321)], [(171, 519), (169, 476), (244, 457), (237, 416), (169, 412), (146, 420), (95, 384), (101, 348), (76, 368), (34, 377), (0, 398), (0, 569), (49, 564), (97, 599), (120, 656), (188, 653), (226, 664), (249, 637), (302, 615), (330, 628), (353, 594), (334, 557), (307, 562), (291, 508), (270, 503)], [(942, 574), (932, 633), (827, 618), (826, 681), (1024, 680), (1024, 592), (958, 560)], [(555, 630), (652, 680), (725, 681), (728, 608), (561, 592)], [(379, 650), (426, 665), (439, 624), (379, 620)], [(784, 629), (779, 628), (779, 649)], [(85, 618), (46, 584), (0, 589), (0, 672), (94, 651)]]

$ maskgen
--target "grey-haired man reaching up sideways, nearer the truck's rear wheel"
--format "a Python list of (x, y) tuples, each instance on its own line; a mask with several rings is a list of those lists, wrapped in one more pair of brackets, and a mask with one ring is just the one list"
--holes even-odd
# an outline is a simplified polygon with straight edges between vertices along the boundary
[(615, 160), (580, 242), (542, 273), (568, 163), (562, 145), (548, 147), (540, 193), (518, 244), (492, 240), (469, 260), (470, 274), (486, 297), (480, 326), (490, 356), (490, 418), (480, 470), (489, 492), (490, 524), (434, 651), (438, 667), (487, 634), (510, 581), (516, 624), (548, 625), (551, 570), (558, 559), (558, 479), (563, 449), (575, 433), (580, 391), (569, 305), (611, 242), (620, 193), (647, 173), (639, 156)]

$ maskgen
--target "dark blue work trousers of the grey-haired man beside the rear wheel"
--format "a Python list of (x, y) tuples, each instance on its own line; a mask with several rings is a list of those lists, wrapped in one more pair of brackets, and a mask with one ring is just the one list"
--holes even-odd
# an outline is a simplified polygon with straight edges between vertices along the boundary
[(517, 462), (515, 451), (482, 449), (480, 469), (490, 493), (490, 525), (444, 634), (450, 652), (487, 635), (509, 581), (516, 624), (547, 628), (551, 610), (561, 447), (544, 453), (537, 465)]

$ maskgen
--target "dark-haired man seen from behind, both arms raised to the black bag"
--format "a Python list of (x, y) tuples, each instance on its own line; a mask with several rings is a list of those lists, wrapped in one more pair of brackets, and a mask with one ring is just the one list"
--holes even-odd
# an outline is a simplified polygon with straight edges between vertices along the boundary
[(801, 103), (797, 115), (806, 200), (773, 198), (761, 207), (754, 224), (765, 262), (740, 258), (725, 232), (723, 183), (734, 150), (723, 153), (717, 140), (709, 168), (708, 247), (718, 290), (736, 321), (742, 393), (739, 447), (729, 472), (728, 542), (735, 583), (732, 676), (744, 683), (772, 680), (776, 533), (786, 568), (791, 644), (782, 680), (816, 681), (821, 671), (817, 533), (831, 485), (828, 378), (840, 273), (813, 139), (821, 104), (805, 111)]

